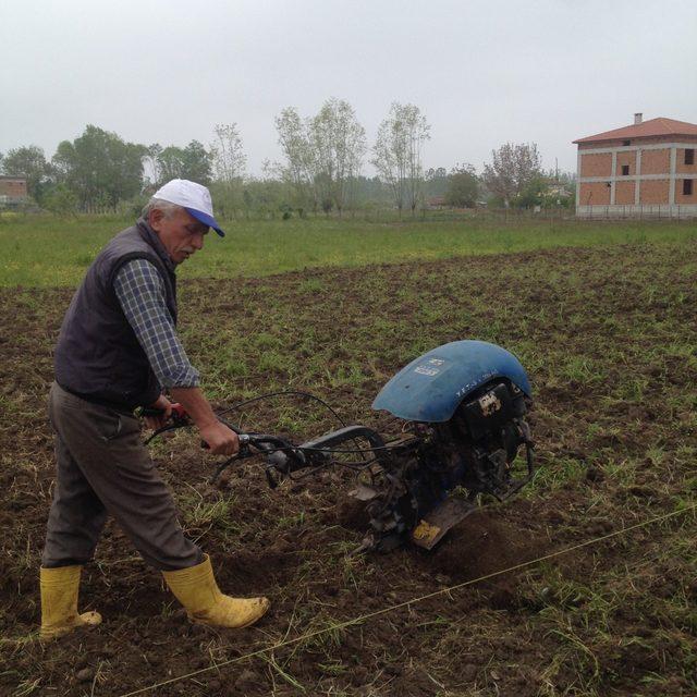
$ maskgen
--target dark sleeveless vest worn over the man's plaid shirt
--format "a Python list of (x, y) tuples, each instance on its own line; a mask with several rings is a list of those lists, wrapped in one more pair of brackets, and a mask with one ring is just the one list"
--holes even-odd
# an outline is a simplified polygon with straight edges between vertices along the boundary
[(120, 232), (94, 260), (73, 296), (56, 345), (56, 381), (86, 400), (133, 409), (148, 405), (160, 386), (113, 290), (119, 269), (147, 259), (164, 281), (167, 306), (176, 323), (174, 265), (143, 220)]

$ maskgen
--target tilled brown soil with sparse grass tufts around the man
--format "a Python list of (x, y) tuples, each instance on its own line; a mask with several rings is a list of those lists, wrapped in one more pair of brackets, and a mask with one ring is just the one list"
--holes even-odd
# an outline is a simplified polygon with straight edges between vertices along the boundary
[[(184, 527), (221, 588), (266, 594), (269, 615), (237, 632), (188, 625), (110, 523), (81, 589), (103, 623), (48, 645), (36, 640), (45, 401), (71, 292), (0, 291), (0, 694), (125, 695), (192, 673), (143, 694), (697, 694), (696, 283), (695, 249), (650, 245), (183, 283), (185, 344), (219, 407), (307, 390), (396, 435), (369, 405), (408, 360), (465, 338), (514, 351), (535, 391), (538, 476), (431, 553), (348, 557), (365, 522), (347, 473), (270, 491), (248, 462), (211, 486), (215, 458), (178, 433), (152, 455)], [(305, 401), (235, 417), (298, 440), (337, 426)]]

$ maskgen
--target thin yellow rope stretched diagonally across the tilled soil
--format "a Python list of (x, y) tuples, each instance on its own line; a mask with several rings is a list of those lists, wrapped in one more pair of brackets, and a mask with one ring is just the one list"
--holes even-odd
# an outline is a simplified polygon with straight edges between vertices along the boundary
[(573, 552), (574, 550), (582, 549), (584, 547), (589, 547), (591, 545), (597, 545), (598, 542), (602, 542), (603, 540), (611, 539), (613, 537), (617, 537), (620, 535), (624, 535), (631, 530), (636, 530), (640, 527), (646, 527), (648, 525), (652, 525), (653, 523), (660, 523), (661, 521), (665, 521), (675, 515), (681, 515), (688, 511), (694, 511), (697, 509), (697, 503), (693, 503), (692, 505), (685, 506), (680, 511), (673, 511), (672, 513), (665, 513), (664, 515), (659, 515), (658, 517), (650, 518), (649, 521), (644, 521), (643, 523), (637, 523), (636, 525), (631, 525), (629, 527), (622, 528), (621, 530), (616, 530), (614, 533), (609, 533), (608, 535), (602, 535), (601, 537), (596, 537), (591, 540), (586, 540), (585, 542), (580, 542), (579, 545), (574, 545), (573, 547), (567, 547), (565, 549), (559, 550), (557, 552), (551, 552), (549, 554), (545, 554), (545, 557), (538, 557), (537, 559), (533, 559), (527, 562), (523, 562), (521, 564), (516, 564), (515, 566), (510, 566), (509, 568), (503, 568), (501, 571), (494, 571), (491, 574), (487, 574), (486, 576), (479, 576), (478, 578), (472, 578), (470, 580), (465, 580), (461, 584), (456, 584), (454, 586), (449, 586), (448, 588), (441, 588), (440, 590), (435, 590), (433, 592), (429, 592), (426, 596), (420, 596), (418, 598), (412, 598), (411, 600), (405, 600), (404, 602), (400, 602), (394, 606), (390, 606), (388, 608), (382, 608), (382, 610), (376, 610), (375, 612), (368, 612), (367, 614), (362, 614), (358, 617), (353, 617), (352, 620), (346, 620), (344, 622), (339, 622), (338, 624), (333, 624), (331, 627), (326, 627), (323, 629), (317, 629), (315, 632), (309, 632), (307, 634), (303, 634), (301, 636), (295, 637), (294, 639), (288, 639), (286, 641), (280, 641), (279, 644), (274, 644), (273, 646), (267, 646), (265, 648), (258, 649), (256, 651), (252, 651), (249, 653), (245, 653), (244, 656), (237, 656), (236, 658), (231, 658), (230, 660), (222, 661), (221, 663), (216, 663), (216, 665), (209, 665), (208, 668), (201, 668), (193, 673), (186, 673), (185, 675), (179, 675), (178, 677), (171, 677), (170, 680), (162, 681), (161, 683), (155, 683), (154, 685), (148, 685), (147, 687), (140, 687), (132, 693), (124, 693), (120, 697), (133, 697), (134, 695), (142, 695), (151, 689), (157, 689), (158, 687), (162, 687), (164, 685), (170, 685), (172, 683), (176, 683), (182, 680), (186, 680), (188, 677), (194, 677), (196, 675), (200, 675), (201, 673), (207, 673), (209, 671), (217, 671), (224, 665), (231, 665), (232, 663), (241, 663), (242, 661), (246, 661), (247, 659), (255, 658), (256, 656), (261, 656), (262, 653), (270, 653), (285, 646), (291, 646), (293, 644), (298, 644), (299, 641), (305, 641), (306, 639), (310, 639), (320, 634), (326, 634), (327, 632), (334, 632), (337, 629), (343, 629), (353, 624), (359, 624), (360, 622), (365, 622), (366, 620), (370, 620), (371, 617), (376, 617), (381, 614), (387, 614), (388, 612), (394, 612), (400, 608), (406, 608), (408, 606), (413, 606), (417, 602), (421, 602), (424, 600), (428, 600), (429, 598), (436, 598), (437, 596), (442, 596), (444, 594), (452, 592), (453, 590), (457, 590), (458, 588), (464, 588), (465, 586), (473, 586), (474, 584), (481, 583), (482, 580), (488, 580), (489, 578), (494, 578), (496, 576), (502, 576), (503, 574), (510, 574), (511, 572), (518, 571), (521, 568), (525, 568), (526, 566), (533, 566), (535, 564), (539, 564), (540, 562), (547, 561), (548, 559), (554, 559), (555, 557), (561, 557), (562, 554), (567, 554), (568, 552)]

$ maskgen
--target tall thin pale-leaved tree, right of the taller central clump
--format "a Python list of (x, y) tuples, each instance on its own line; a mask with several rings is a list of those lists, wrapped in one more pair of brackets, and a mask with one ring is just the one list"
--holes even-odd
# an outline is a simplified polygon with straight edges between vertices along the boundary
[(404, 206), (408, 206), (414, 215), (421, 199), (421, 149), (429, 138), (430, 126), (415, 105), (393, 102), (388, 118), (378, 129), (371, 162), (382, 182), (390, 187), (400, 215)]

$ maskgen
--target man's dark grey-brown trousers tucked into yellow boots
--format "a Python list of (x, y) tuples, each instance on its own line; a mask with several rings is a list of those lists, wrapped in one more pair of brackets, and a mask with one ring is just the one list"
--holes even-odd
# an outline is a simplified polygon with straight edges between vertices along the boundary
[(176, 521), (174, 501), (140, 440), (138, 419), (86, 402), (57, 383), (49, 418), (57, 478), (42, 566), (90, 561), (107, 515), (155, 568), (175, 571), (204, 560)]

